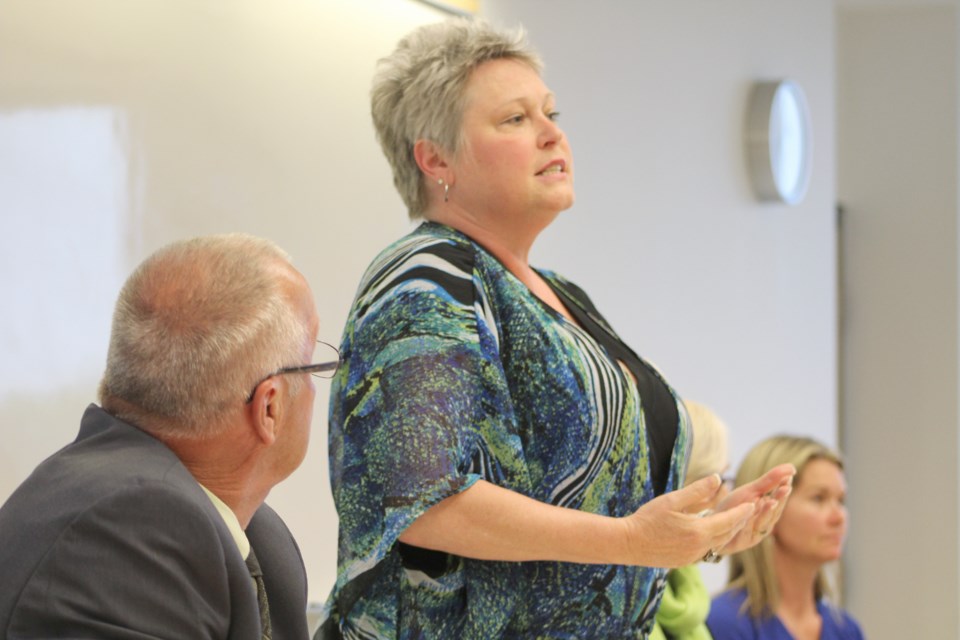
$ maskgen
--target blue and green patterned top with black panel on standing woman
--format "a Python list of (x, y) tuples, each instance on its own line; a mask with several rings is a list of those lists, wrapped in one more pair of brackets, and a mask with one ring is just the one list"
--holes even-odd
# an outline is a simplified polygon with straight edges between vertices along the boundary
[(580, 289), (540, 273), (578, 323), (438, 224), (424, 223), (367, 270), (331, 395), (339, 568), (319, 637), (650, 632), (664, 570), (480, 561), (398, 540), (480, 479), (610, 516), (683, 485), (682, 403)]

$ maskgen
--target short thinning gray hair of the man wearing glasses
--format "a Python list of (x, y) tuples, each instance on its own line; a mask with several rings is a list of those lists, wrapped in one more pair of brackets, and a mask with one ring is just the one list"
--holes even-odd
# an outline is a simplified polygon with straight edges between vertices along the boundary
[(245, 234), (155, 252), (120, 291), (100, 403), (156, 435), (216, 434), (257, 382), (303, 358), (310, 329), (289, 265), (275, 244)]

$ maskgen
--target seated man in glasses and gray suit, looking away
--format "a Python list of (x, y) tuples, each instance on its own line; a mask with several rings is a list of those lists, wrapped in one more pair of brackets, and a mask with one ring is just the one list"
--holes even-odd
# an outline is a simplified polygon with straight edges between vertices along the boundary
[(141, 264), (100, 406), (0, 508), (0, 637), (306, 638), (303, 560), (263, 502), (306, 453), (308, 374), (338, 364), (310, 364), (318, 326), (266, 240)]

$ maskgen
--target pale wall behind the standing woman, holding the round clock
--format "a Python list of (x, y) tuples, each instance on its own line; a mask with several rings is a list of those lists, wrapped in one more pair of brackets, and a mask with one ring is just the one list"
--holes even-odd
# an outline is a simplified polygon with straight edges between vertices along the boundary
[[(526, 23), (572, 139), (578, 201), (537, 264), (726, 419), (734, 464), (773, 432), (836, 442), (832, 1), (482, 8)], [(374, 60), (438, 15), (411, 0), (0, 4), (0, 175), (18, 168), (0, 178), (0, 496), (74, 436), (113, 297), (161, 244), (276, 240), (339, 336), (361, 270), (407, 228), (369, 125)], [(750, 83), (781, 76), (814, 125), (796, 207), (757, 203), (744, 163)], [(319, 398), (307, 460), (270, 498), (313, 600), (336, 541)]]

